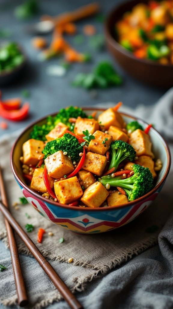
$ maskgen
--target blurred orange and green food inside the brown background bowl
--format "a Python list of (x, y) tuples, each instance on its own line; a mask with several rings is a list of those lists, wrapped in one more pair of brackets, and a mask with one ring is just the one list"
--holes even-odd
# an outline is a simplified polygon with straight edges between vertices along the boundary
[(115, 24), (118, 42), (137, 58), (173, 64), (173, 1), (139, 3)]

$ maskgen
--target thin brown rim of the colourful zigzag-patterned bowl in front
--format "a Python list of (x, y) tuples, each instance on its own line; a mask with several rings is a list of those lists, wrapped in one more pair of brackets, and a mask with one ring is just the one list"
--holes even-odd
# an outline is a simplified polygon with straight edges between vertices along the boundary
[[(93, 111), (97, 111), (97, 112), (105, 111), (107, 109), (107, 108), (94, 108), (94, 107), (81, 107), (81, 108), (84, 111), (86, 110), (86, 111), (91, 111), (91, 112), (93, 112)], [(55, 116), (57, 113), (58, 112), (55, 112), (55, 113), (50, 114), (50, 115), (51, 116)], [(139, 117), (131, 116), (130, 114), (126, 114), (126, 113), (123, 113), (123, 112), (120, 112), (120, 114), (123, 115), (123, 116), (127, 116), (127, 117), (130, 117), (130, 118), (133, 118), (136, 121), (140, 121), (141, 123), (143, 123), (143, 125), (148, 125), (147, 122), (143, 121)], [(170, 166), (171, 166), (171, 154), (170, 154), (169, 146), (168, 146), (166, 140), (163, 138), (163, 136), (155, 128), (152, 127), (151, 130), (153, 130), (155, 132), (155, 134), (161, 138), (161, 140), (163, 142), (163, 145), (165, 147), (166, 154), (167, 154), (167, 167), (166, 167), (166, 171), (165, 171), (165, 174), (163, 175), (162, 179), (159, 181), (159, 183), (150, 192), (148, 192), (147, 194), (143, 195), (142, 197), (137, 198), (134, 201), (130, 201), (130, 202), (126, 203), (126, 204), (123, 204), (123, 205), (120, 205), (120, 206), (114, 206), (114, 207), (111, 207), (111, 206), (98, 207), (98, 208), (79, 207), (79, 206), (71, 207), (71, 206), (66, 205), (66, 204), (61, 204), (61, 203), (58, 203), (58, 202), (55, 202), (55, 201), (47, 200), (45, 197), (42, 197), (42, 195), (39, 195), (39, 193), (36, 193), (35, 191), (31, 190), (20, 179), (20, 177), (18, 176), (18, 173), (17, 173), (16, 168), (14, 166), (14, 149), (16, 148), (19, 139), (22, 137), (22, 135), (24, 135), (26, 133), (26, 131), (28, 131), (32, 126), (36, 125), (38, 122), (41, 122), (41, 121), (45, 120), (50, 115), (43, 116), (42, 118), (39, 118), (38, 120), (33, 121), (30, 125), (28, 125), (22, 131), (22, 133), (18, 136), (18, 138), (15, 140), (15, 142), (14, 142), (14, 144), (12, 146), (11, 152), (10, 152), (10, 165), (11, 165), (14, 177), (16, 178), (18, 183), (23, 188), (25, 188), (31, 195), (34, 195), (35, 197), (41, 199), (43, 202), (49, 203), (49, 204), (54, 205), (54, 206), (59, 206), (59, 207), (65, 208), (65, 209), (78, 210), (78, 211), (105, 211), (105, 210), (110, 211), (110, 210), (118, 210), (118, 209), (122, 209), (122, 208), (125, 208), (125, 207), (134, 206), (134, 205), (136, 205), (136, 204), (138, 204), (139, 202), (142, 202), (142, 201), (144, 202), (145, 199), (150, 197), (151, 195), (153, 195), (158, 190), (158, 188), (162, 186), (162, 184), (166, 180), (166, 178), (168, 176), (168, 173), (169, 173), (169, 170), (170, 170)]]

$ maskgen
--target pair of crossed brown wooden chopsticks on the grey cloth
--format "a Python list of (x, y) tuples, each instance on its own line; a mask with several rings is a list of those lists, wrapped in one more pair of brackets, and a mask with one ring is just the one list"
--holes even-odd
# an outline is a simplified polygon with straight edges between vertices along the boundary
[[(16, 284), (16, 290), (18, 294), (18, 304), (21, 307), (24, 307), (28, 304), (28, 298), (26, 294), (25, 283), (22, 275), (22, 269), (20, 265), (20, 260), (18, 256), (18, 250), (16, 245), (16, 240), (14, 238), (13, 229), (20, 236), (23, 242), (26, 244), (30, 252), (33, 254), (35, 259), (38, 261), (42, 269), (48, 275), (50, 280), (53, 282), (54, 286), (59, 290), (62, 294), (63, 298), (69, 304), (72, 309), (83, 309), (82, 305), (78, 302), (77, 298), (75, 298), (74, 294), (69, 290), (66, 284), (62, 281), (62, 279), (55, 272), (50, 263), (44, 258), (39, 249), (30, 239), (30, 237), (26, 234), (26, 232), (22, 229), (22, 227), (18, 224), (18, 222), (13, 218), (10, 214), (8, 208), (8, 202), (5, 193), (5, 187), (2, 178), (2, 172), (0, 169), (0, 193), (1, 199), (0, 201), (0, 211), (5, 217), (6, 230), (9, 240), (9, 248), (11, 252), (11, 260), (13, 265), (14, 279)], [(13, 228), (13, 229), (12, 229)]]

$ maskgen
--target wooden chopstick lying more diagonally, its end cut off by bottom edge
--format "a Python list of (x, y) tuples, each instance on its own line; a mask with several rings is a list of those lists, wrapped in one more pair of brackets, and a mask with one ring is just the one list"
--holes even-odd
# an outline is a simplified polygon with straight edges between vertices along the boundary
[(42, 269), (48, 275), (50, 280), (53, 282), (54, 286), (59, 290), (62, 294), (63, 298), (69, 304), (72, 309), (83, 309), (82, 305), (78, 302), (77, 298), (72, 294), (69, 288), (66, 286), (64, 281), (58, 276), (50, 263), (44, 258), (39, 249), (30, 239), (30, 237), (26, 234), (26, 232), (22, 229), (22, 227), (18, 224), (18, 222), (13, 218), (7, 208), (0, 201), (0, 210), (4, 217), (8, 220), (10, 225), (14, 228), (16, 233), (20, 236), (23, 242), (26, 244), (30, 252), (33, 254), (35, 259), (38, 261)]

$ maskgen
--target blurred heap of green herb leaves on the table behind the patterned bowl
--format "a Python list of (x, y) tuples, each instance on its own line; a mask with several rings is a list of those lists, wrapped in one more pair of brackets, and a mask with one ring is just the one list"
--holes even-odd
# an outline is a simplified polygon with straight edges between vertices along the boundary
[(107, 62), (100, 62), (92, 73), (79, 73), (76, 75), (73, 86), (83, 87), (85, 89), (91, 88), (107, 88), (111, 86), (118, 86), (122, 84), (122, 78), (116, 73), (113, 66)]

